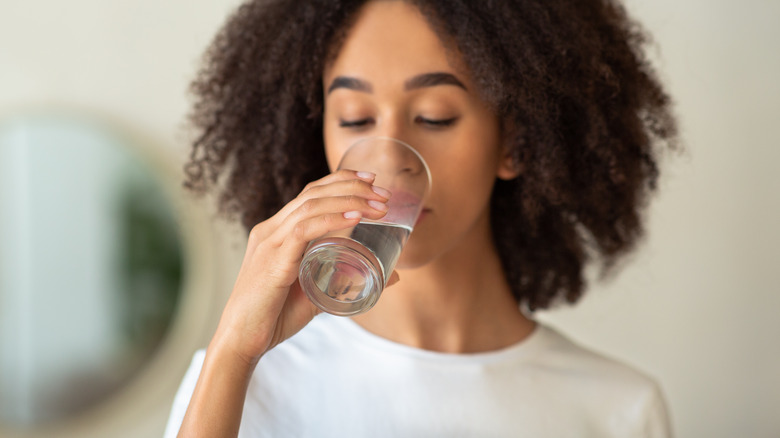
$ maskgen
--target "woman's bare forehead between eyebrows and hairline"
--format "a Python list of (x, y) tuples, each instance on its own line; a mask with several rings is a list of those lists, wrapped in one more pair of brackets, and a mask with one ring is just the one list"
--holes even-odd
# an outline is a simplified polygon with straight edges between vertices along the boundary
[(392, 86), (423, 72), (463, 71), (459, 55), (447, 52), (425, 16), (407, 2), (370, 1), (353, 23), (324, 72), (326, 84), (354, 76)]

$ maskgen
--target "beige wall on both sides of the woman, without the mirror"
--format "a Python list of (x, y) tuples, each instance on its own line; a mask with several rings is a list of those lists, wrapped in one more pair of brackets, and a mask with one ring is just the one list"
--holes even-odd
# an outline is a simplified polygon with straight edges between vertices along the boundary
[[(99, 114), (181, 156), (186, 83), (234, 4), (5, 1), (0, 117), (31, 108)], [(780, 436), (780, 2), (629, 7), (660, 47), (653, 56), (678, 102), (687, 150), (670, 155), (649, 237), (624, 271), (580, 306), (542, 318), (658, 377), (678, 436)], [(241, 250), (234, 234), (222, 236), (220, 291), (232, 285)], [(203, 344), (208, 331), (198, 334)], [(189, 360), (177, 354), (164, 365), (173, 375)], [(79, 435), (161, 434), (176, 384), (137, 389), (153, 395), (101, 412), (103, 429), (90, 435), (87, 421)]]

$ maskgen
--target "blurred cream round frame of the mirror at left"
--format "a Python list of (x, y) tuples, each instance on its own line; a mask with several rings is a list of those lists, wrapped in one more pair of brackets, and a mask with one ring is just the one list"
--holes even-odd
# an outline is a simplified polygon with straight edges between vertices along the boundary
[[(104, 400), (62, 420), (19, 429), (0, 423), (0, 436), (8, 438), (61, 438), (161, 436), (173, 395), (193, 353), (205, 348), (219, 319), (215, 308), (224, 305), (217, 293), (224, 282), (219, 263), (225, 257), (225, 233), (214, 221), (213, 199), (195, 199), (183, 186), (183, 164), (188, 145), (171, 145), (152, 139), (140, 129), (105, 115), (73, 109), (36, 109), (4, 112), (0, 124), (14, 119), (56, 117), (81, 125), (94, 125), (134, 148), (140, 161), (157, 175), (164, 197), (180, 230), (183, 277), (179, 302), (168, 332), (147, 362)], [(177, 153), (178, 152), (178, 153)], [(228, 239), (229, 240), (229, 239)], [(227, 259), (227, 260), (226, 260)], [(225, 264), (224, 266), (230, 266)], [(162, 425), (162, 426), (161, 426)]]

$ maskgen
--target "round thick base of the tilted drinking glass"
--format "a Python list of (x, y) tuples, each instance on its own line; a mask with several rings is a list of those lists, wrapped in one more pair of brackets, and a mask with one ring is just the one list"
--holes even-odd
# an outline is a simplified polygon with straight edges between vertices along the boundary
[(379, 300), (384, 278), (379, 261), (352, 239), (329, 237), (312, 244), (301, 262), (301, 287), (325, 312), (352, 316)]

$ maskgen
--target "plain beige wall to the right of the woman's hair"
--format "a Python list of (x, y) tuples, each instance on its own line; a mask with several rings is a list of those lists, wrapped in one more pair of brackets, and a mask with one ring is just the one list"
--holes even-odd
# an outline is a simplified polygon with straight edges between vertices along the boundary
[(552, 319), (659, 377), (679, 436), (780, 436), (780, 2), (629, 6), (660, 46), (687, 152), (642, 252)]

